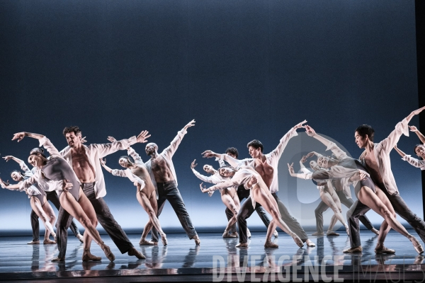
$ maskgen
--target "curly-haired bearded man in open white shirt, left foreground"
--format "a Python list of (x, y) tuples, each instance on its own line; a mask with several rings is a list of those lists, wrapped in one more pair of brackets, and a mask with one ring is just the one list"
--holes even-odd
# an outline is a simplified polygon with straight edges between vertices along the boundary
[[(63, 134), (67, 139), (68, 146), (62, 149), (60, 154), (72, 169), (74, 169), (75, 174), (81, 182), (84, 194), (90, 200), (91, 204), (93, 204), (99, 223), (121, 253), (128, 253), (128, 255), (135, 255), (139, 259), (144, 259), (145, 255), (142, 255), (142, 253), (135, 249), (128, 236), (121, 229), (121, 226), (113, 218), (108, 205), (103, 200), (103, 197), (106, 195), (106, 187), (99, 159), (113, 154), (115, 151), (127, 149), (128, 146), (136, 142), (146, 142), (145, 139), (149, 136), (140, 134), (137, 137), (133, 136), (130, 139), (122, 139), (110, 144), (89, 144), (89, 146), (86, 146), (81, 144), (81, 129), (79, 127), (65, 127)], [(59, 248), (59, 255), (55, 260), (64, 260), (65, 258), (67, 250), (66, 229), (69, 226), (69, 219), (72, 219), (72, 216), (69, 216), (64, 209), (61, 209), (57, 217), (57, 246)], [(84, 233), (84, 241), (88, 241), (88, 239), (88, 234)], [(84, 249), (83, 261), (88, 260), (97, 261), (101, 260), (101, 258), (92, 255), (89, 249)]]

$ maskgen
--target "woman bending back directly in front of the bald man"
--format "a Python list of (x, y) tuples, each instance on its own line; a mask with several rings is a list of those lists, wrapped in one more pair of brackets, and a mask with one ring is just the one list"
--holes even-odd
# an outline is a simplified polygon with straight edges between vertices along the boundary
[[(150, 137), (147, 136), (147, 131), (143, 133), (145, 138)], [(115, 142), (116, 139), (113, 137), (108, 137), (109, 141)], [(164, 246), (167, 245), (166, 235), (164, 231), (162, 231), (161, 224), (159, 224), (159, 219), (157, 218), (158, 204), (157, 204), (157, 192), (155, 192), (154, 184), (152, 184), (152, 180), (150, 180), (149, 172), (143, 163), (142, 158), (140, 158), (139, 154), (136, 153), (134, 149), (131, 147), (128, 148), (129, 156), (121, 156), (118, 163), (120, 166), (127, 168), (125, 170), (112, 170), (108, 166), (106, 166), (106, 159), (101, 160), (101, 165), (112, 175), (120, 176), (128, 178), (130, 181), (134, 183), (137, 187), (136, 198), (140, 205), (147, 212), (147, 216), (149, 216), (149, 221), (145, 225), (145, 229), (143, 229), (142, 238), (140, 238), (139, 245), (154, 245), (152, 241), (146, 241), (147, 234), (151, 231), (152, 226), (159, 231), (161, 234), (162, 244)]]

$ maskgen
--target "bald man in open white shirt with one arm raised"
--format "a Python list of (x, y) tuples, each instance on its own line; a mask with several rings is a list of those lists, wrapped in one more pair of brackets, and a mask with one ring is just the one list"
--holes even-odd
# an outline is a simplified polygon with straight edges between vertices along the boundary
[[(158, 154), (158, 146), (153, 142), (146, 145), (146, 154), (151, 158), (145, 163), (147, 171), (149, 171), (152, 183), (158, 191), (158, 213), (157, 216), (162, 212), (165, 201), (168, 200), (176, 212), (177, 217), (184, 231), (188, 234), (189, 239), (194, 239), (196, 245), (200, 244), (198, 233), (196, 233), (193, 227), (191, 216), (189, 216), (186, 207), (183, 202), (183, 198), (180, 195), (179, 189), (177, 188), (177, 176), (174, 170), (174, 164), (171, 158), (173, 158), (181, 139), (187, 133), (188, 127), (193, 127), (195, 120), (188, 122), (186, 126), (177, 133), (177, 136), (171, 141), (171, 144)], [(152, 241), (158, 242), (158, 231), (152, 228)]]

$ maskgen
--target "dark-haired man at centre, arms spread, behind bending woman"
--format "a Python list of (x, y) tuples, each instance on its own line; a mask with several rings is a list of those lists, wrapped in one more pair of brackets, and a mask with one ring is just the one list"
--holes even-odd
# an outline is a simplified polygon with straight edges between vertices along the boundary
[[(282, 220), (285, 222), (288, 227), (297, 234), (301, 238), (303, 242), (307, 244), (307, 246), (316, 246), (307, 236), (307, 233), (305, 233), (304, 229), (302, 229), (301, 225), (298, 223), (297, 219), (295, 219), (293, 216), (290, 215), (288, 212), (288, 209), (286, 209), (285, 205), (281, 200), (279, 200), (277, 192), (278, 192), (278, 162), (280, 159), (280, 156), (283, 154), (283, 150), (285, 149), (286, 145), (288, 144), (288, 141), (297, 135), (297, 129), (304, 127), (302, 124), (304, 124), (307, 121), (300, 122), (299, 124), (295, 125), (292, 129), (289, 130), (288, 133), (286, 133), (282, 139), (280, 139), (280, 143), (274, 149), (271, 151), (270, 154), (263, 154), (263, 144), (261, 144), (261, 141), (254, 139), (253, 141), (250, 141), (247, 144), (247, 147), (249, 149), (249, 155), (252, 158), (245, 158), (242, 160), (234, 159), (227, 154), (215, 154), (212, 151), (204, 151), (204, 157), (220, 157), (221, 159), (224, 159), (227, 161), (230, 165), (232, 165), (234, 168), (237, 168), (238, 166), (246, 165), (246, 166), (252, 166), (255, 171), (257, 171), (261, 178), (263, 178), (264, 183), (266, 183), (267, 187), (271, 191), (271, 195), (275, 198), (276, 202), (278, 203), (279, 211), (282, 216)], [(257, 203), (256, 207), (260, 204)], [(239, 214), (237, 216), (237, 223), (239, 225), (239, 244), (237, 244), (238, 248), (247, 247), (247, 236), (246, 236), (246, 219), (251, 216), (251, 214), (254, 212), (254, 207), (252, 206), (251, 198), (248, 198), (242, 204), (241, 209), (239, 209)]]

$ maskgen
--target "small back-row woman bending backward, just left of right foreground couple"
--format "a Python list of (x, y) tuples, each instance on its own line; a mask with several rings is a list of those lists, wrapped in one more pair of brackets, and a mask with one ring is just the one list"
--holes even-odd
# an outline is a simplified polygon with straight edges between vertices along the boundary
[[(318, 155), (319, 157), (322, 155)], [(301, 171), (302, 173), (295, 173), (293, 164), (289, 165), (289, 173), (293, 177), (301, 178), (301, 179), (312, 179), (313, 173), (309, 171), (307, 168), (305, 168), (303, 162), (307, 159), (307, 156), (302, 156), (302, 159), (300, 161)], [(313, 162), (313, 161), (312, 161)], [(320, 170), (319, 166), (317, 166), (317, 163), (310, 164), (312, 166), (313, 171)], [(342, 225), (344, 225), (347, 234), (349, 235), (348, 231), (348, 225), (346, 224), (346, 221), (344, 220), (344, 216), (342, 216), (341, 212), (341, 202), (339, 201), (339, 197), (336, 195), (336, 192), (334, 191), (334, 188), (332, 186), (331, 180), (313, 180), (313, 182), (317, 185), (317, 190), (319, 190), (320, 198), (322, 199), (322, 202), (327, 204), (328, 207), (330, 207), (334, 211), (334, 216), (336, 219), (338, 219)], [(333, 217), (331, 219), (331, 225), (329, 225), (328, 233), (332, 232), (332, 229), (334, 228), (335, 222), (333, 221)]]

